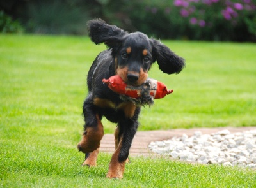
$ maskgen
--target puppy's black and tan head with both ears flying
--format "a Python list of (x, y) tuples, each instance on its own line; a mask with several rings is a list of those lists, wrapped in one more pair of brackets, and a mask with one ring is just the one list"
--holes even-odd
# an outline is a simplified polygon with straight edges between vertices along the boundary
[(145, 82), (148, 70), (156, 61), (159, 69), (167, 74), (177, 74), (185, 66), (182, 57), (143, 33), (126, 33), (100, 19), (88, 22), (88, 32), (95, 44), (105, 43), (111, 48), (116, 75), (120, 75), (129, 85), (141, 85)]

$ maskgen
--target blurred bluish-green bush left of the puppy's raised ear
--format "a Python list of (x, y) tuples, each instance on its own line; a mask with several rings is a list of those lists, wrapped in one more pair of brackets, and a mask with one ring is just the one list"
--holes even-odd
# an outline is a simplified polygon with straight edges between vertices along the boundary
[(43, 34), (85, 34), (86, 12), (70, 1), (33, 1), (28, 4), (27, 29)]

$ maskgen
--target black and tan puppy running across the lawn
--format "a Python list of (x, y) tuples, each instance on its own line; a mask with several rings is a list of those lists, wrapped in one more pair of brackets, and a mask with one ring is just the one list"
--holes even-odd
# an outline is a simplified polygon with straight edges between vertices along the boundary
[(184, 59), (174, 54), (160, 41), (135, 32), (126, 33), (115, 25), (100, 19), (88, 22), (88, 32), (95, 44), (105, 43), (108, 50), (100, 52), (93, 62), (87, 78), (88, 96), (84, 101), (84, 133), (77, 147), (86, 154), (83, 165), (96, 166), (100, 140), (104, 134), (103, 116), (117, 123), (115, 152), (112, 155), (108, 178), (122, 178), (132, 139), (138, 128), (140, 106), (124, 101), (102, 83), (103, 78), (120, 75), (129, 85), (141, 85), (148, 77), (154, 62), (167, 74), (179, 73)]

